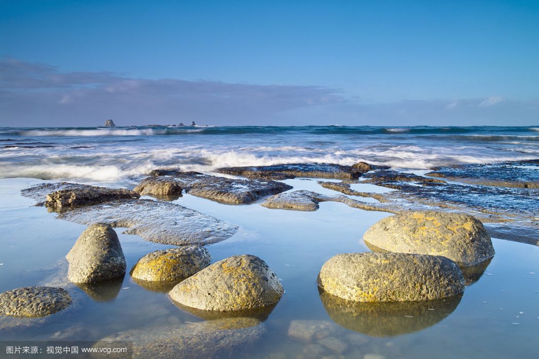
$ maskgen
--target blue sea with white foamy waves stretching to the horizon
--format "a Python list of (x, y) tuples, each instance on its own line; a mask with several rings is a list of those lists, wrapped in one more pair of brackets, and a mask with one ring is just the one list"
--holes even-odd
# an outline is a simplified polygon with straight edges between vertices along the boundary
[(357, 161), (392, 168), (539, 157), (539, 127), (0, 128), (0, 178), (117, 182), (155, 168)]

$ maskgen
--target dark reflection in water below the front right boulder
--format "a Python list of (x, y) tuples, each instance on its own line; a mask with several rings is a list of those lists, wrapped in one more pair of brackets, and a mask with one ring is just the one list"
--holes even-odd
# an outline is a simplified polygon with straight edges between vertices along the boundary
[(355, 302), (320, 291), (331, 319), (343, 327), (370, 336), (417, 332), (446, 318), (460, 303), (461, 295), (410, 302)]

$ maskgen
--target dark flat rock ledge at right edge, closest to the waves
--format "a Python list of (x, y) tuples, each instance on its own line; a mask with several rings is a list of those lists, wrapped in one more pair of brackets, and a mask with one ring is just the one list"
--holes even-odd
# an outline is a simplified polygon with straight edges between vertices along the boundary
[(426, 175), (476, 185), (539, 188), (539, 159), (439, 167)]

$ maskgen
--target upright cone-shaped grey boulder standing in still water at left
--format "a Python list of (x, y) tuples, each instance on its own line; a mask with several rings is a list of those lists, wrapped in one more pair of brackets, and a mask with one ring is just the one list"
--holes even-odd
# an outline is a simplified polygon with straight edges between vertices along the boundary
[(69, 262), (67, 278), (73, 283), (122, 277), (126, 272), (118, 235), (106, 223), (94, 223), (80, 235), (66, 256)]

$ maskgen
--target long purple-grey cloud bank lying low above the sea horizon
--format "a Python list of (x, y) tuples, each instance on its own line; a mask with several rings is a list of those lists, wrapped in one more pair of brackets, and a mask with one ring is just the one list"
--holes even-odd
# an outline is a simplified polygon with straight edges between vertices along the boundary
[(0, 125), (534, 124), (539, 101), (501, 96), (365, 104), (340, 89), (219, 81), (136, 79), (112, 72), (0, 61)]

